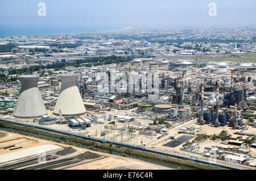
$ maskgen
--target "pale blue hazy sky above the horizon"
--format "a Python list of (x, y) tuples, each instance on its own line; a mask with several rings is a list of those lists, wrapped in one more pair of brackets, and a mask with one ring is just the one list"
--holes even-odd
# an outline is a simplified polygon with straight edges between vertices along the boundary
[[(46, 16), (38, 16), (38, 3)], [(209, 16), (209, 3), (217, 16)], [(255, 26), (255, 0), (0, 0), (0, 26)]]

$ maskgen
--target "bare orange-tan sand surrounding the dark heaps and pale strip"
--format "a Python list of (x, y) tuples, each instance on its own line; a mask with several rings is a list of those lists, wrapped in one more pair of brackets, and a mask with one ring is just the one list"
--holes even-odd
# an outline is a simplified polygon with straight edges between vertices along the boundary
[[(9, 145), (9, 144), (13, 144), (13, 142), (23, 142), (26, 140), (30, 141), (30, 142), (25, 142), (22, 145), (23, 148), (18, 149), (19, 151), (35, 148), (36, 146), (40, 146), (40, 145), (56, 145), (56, 146), (60, 146), (61, 148), (69, 147), (69, 145), (60, 144), (60, 143), (53, 142), (53, 141), (47, 141), (47, 140), (42, 140), (42, 139), (38, 139), (38, 138), (34, 138), (34, 137), (23, 136), (23, 135), (16, 134), (16, 133), (9, 133), (9, 132), (5, 132), (5, 133), (8, 133), (9, 136), (0, 138), (0, 144), (2, 144), (2, 145)], [(13, 141), (10, 141), (10, 140), (13, 140)], [(19, 146), (20, 145), (17, 145), (17, 147), (19, 147)], [(148, 162), (143, 162), (138, 159), (125, 158), (125, 157), (121, 157), (118, 155), (101, 153), (98, 151), (78, 148), (76, 146), (72, 146), (72, 147), (77, 150), (76, 154), (84, 153), (85, 151), (91, 151), (93, 153), (100, 154), (100, 155), (102, 155), (102, 157), (105, 157), (105, 158), (98, 160), (98, 161), (91, 162), (91, 163), (86, 163), (81, 166), (72, 167), (71, 170), (72, 169), (76, 169), (76, 170), (79, 170), (79, 169), (103, 169), (104, 170), (104, 169), (115, 169), (115, 168), (121, 167), (121, 166), (127, 167), (128, 169), (148, 169), (148, 170), (150, 170), (150, 169), (169, 170), (170, 169), (168, 167), (159, 166), (159, 165), (155, 165), (155, 164), (148, 163)], [(0, 155), (6, 154), (6, 153), (15, 153), (18, 150), (0, 149)], [(71, 154), (71, 155), (73, 155), (73, 154)], [(71, 155), (65, 155), (63, 158), (67, 158)], [(84, 163), (84, 162), (88, 162), (88, 161), (90, 161), (90, 160), (84, 160), (80, 163)], [(65, 166), (65, 167), (68, 167), (68, 166)]]

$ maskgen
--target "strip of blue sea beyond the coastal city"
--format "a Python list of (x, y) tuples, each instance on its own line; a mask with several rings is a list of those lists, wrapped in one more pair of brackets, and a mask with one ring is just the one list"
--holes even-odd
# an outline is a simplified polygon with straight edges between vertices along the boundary
[(59, 35), (92, 32), (92, 31), (112, 31), (119, 30), (125, 27), (75, 27), (75, 26), (22, 26), (22, 25), (1, 25), (0, 36), (34, 36), (34, 35)]

